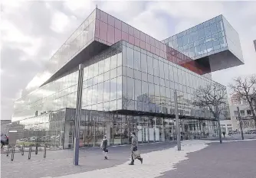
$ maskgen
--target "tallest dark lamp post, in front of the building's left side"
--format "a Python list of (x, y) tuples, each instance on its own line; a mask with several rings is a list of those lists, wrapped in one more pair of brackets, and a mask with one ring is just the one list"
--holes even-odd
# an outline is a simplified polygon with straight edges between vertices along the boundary
[(74, 157), (73, 157), (73, 163), (74, 163), (75, 166), (78, 165), (78, 161), (79, 161), (80, 112), (81, 112), (82, 94), (83, 94), (83, 79), (84, 79), (84, 68), (82, 67), (82, 64), (79, 64), (78, 85), (77, 85), (77, 107), (76, 107), (76, 116), (74, 117)]

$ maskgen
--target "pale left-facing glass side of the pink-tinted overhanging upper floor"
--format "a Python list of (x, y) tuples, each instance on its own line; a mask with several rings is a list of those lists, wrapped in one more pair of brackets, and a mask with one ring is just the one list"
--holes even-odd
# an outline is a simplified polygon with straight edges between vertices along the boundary
[[(22, 96), (45, 83), (57, 70), (60, 70), (66, 63), (71, 61), (77, 53), (80, 53), (85, 47), (94, 41), (95, 34), (95, 16), (94, 10), (85, 21), (80, 24), (79, 28), (71, 34), (65, 43), (57, 50), (48, 61), (44, 70), (34, 76), (34, 79), (40, 79), (40, 83), (34, 86), (28, 86), (22, 91)], [(33, 79), (32, 79), (33, 80)]]

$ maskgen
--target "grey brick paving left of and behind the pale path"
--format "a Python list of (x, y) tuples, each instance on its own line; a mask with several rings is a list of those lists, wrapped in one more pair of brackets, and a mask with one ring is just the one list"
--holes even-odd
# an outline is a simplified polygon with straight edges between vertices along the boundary
[[(156, 143), (139, 145), (142, 153), (149, 153), (153, 150), (165, 150), (174, 147), (174, 143)], [(31, 160), (28, 160), (28, 152), (24, 156), (15, 153), (14, 161), (11, 155), (1, 154), (1, 177), (2, 178), (36, 178), (46, 176), (64, 176), (74, 173), (98, 170), (107, 167), (114, 167), (126, 162), (130, 158), (130, 146), (110, 147), (109, 160), (103, 160), (100, 148), (87, 148), (80, 150), (79, 166), (73, 166), (73, 150), (51, 150), (47, 152), (46, 158), (43, 151), (38, 155), (31, 153)]]

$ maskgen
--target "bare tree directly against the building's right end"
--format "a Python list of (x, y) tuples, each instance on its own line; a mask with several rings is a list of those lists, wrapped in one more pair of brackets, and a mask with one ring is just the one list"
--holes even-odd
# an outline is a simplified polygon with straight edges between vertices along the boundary
[(228, 99), (225, 86), (218, 83), (200, 86), (199, 89), (195, 90), (193, 104), (202, 108), (208, 108), (214, 118), (218, 121), (218, 136), (219, 141), (222, 144), (220, 115), (228, 115)]

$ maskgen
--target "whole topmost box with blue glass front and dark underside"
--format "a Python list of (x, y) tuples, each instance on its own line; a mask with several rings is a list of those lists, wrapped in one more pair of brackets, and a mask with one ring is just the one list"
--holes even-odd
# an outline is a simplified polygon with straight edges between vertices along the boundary
[(162, 40), (211, 72), (244, 64), (238, 32), (223, 15)]

